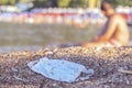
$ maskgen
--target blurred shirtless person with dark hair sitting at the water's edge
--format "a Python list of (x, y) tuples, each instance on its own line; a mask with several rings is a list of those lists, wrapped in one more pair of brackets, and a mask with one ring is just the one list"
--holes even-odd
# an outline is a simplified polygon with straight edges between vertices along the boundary
[[(109, 0), (110, 1), (110, 0)], [(129, 29), (124, 19), (117, 14), (108, 0), (101, 2), (101, 11), (108, 21), (105, 24), (102, 32), (88, 43), (82, 43), (81, 46), (127, 46), (129, 42)]]

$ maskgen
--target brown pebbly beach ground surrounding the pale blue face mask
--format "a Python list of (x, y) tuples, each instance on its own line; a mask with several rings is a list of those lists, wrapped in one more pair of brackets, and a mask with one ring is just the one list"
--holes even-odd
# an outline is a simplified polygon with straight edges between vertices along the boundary
[[(67, 84), (29, 69), (29, 62), (45, 56), (82, 64), (94, 69), (95, 75), (85, 81)], [(132, 47), (67, 47), (1, 53), (0, 88), (132, 88)]]

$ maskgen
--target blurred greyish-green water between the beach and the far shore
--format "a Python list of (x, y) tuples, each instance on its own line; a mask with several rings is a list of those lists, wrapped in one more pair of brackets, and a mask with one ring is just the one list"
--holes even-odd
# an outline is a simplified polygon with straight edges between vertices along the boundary
[[(0, 52), (33, 51), (59, 44), (88, 42), (101, 31), (100, 25), (77, 28), (66, 24), (0, 23)], [(132, 26), (130, 26), (132, 33)], [(132, 35), (131, 35), (132, 40)], [(132, 41), (130, 41), (132, 45)]]

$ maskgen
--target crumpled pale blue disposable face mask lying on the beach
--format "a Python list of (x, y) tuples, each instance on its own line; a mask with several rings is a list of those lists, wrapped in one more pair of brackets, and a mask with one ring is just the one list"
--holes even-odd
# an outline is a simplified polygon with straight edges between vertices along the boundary
[[(64, 59), (48, 59), (44, 57), (29, 63), (28, 66), (33, 72), (47, 78), (66, 82), (86, 80), (94, 75), (94, 69), (87, 70), (86, 67), (80, 64)], [(81, 73), (87, 74), (87, 76), (79, 77)]]

